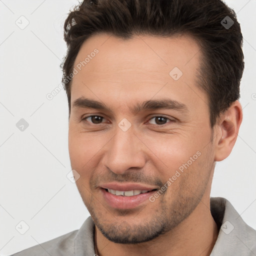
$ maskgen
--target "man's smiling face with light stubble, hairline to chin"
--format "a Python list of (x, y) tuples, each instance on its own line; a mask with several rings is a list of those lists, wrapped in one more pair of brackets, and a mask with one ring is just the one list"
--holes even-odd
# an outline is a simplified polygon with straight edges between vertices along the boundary
[[(76, 184), (96, 226), (111, 241), (151, 240), (195, 208), (205, 210), (199, 201), (209, 196), (214, 139), (207, 96), (196, 86), (199, 50), (188, 36), (124, 41), (97, 34), (78, 52), (71, 167), (80, 175)], [(83, 107), (81, 97), (108, 109)], [(172, 101), (169, 108), (142, 103), (149, 100)]]

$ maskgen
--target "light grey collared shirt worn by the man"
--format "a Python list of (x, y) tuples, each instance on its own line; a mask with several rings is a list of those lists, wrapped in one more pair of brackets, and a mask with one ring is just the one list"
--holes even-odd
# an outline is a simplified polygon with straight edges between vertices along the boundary
[[(231, 203), (222, 197), (211, 197), (210, 210), (217, 225), (221, 226), (210, 256), (256, 256), (256, 230), (242, 220)], [(89, 216), (80, 229), (13, 256), (93, 256), (93, 234), (94, 223)]]

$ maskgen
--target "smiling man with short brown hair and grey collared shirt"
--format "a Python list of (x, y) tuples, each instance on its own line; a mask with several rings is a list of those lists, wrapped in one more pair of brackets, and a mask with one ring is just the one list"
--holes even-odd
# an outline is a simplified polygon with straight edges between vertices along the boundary
[(64, 28), (69, 155), (91, 216), (14, 255), (255, 255), (256, 231), (210, 198), (242, 121), (235, 13), (220, 0), (84, 0)]

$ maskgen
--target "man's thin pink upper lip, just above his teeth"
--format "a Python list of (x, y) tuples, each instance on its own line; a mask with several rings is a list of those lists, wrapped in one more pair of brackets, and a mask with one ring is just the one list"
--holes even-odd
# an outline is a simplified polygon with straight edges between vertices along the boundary
[(118, 191), (130, 191), (130, 190), (153, 190), (156, 189), (156, 187), (152, 187), (145, 184), (137, 184), (137, 183), (117, 183), (117, 182), (111, 182), (111, 183), (104, 183), (101, 184), (100, 187), (102, 188), (109, 188), (113, 190)]

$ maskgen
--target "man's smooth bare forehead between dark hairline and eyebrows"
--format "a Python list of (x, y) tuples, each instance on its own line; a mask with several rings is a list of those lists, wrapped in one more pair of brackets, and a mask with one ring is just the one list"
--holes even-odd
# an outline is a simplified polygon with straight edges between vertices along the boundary
[(200, 54), (199, 44), (188, 35), (137, 35), (127, 40), (93, 35), (83, 42), (74, 61), (78, 72), (72, 79), (71, 102), (82, 94), (97, 99), (105, 93), (141, 100), (157, 91), (171, 92), (180, 100), (188, 86), (196, 90)]

